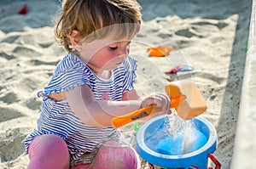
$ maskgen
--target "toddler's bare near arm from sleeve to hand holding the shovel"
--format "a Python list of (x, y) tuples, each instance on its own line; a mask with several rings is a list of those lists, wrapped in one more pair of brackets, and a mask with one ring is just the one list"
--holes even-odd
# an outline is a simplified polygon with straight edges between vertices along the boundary
[[(166, 96), (155, 95), (143, 99), (143, 101), (138, 101), (125, 100), (125, 94), (124, 101), (96, 100), (88, 85), (77, 86), (65, 92), (67, 102), (73, 112), (79, 117), (80, 121), (88, 126), (111, 126), (113, 117), (131, 113), (150, 104), (156, 104), (157, 107), (162, 107), (162, 110), (170, 109), (166, 105), (170, 105), (170, 100)], [(128, 99), (129, 95), (127, 95)], [(133, 97), (137, 99), (138, 96), (133, 95)]]

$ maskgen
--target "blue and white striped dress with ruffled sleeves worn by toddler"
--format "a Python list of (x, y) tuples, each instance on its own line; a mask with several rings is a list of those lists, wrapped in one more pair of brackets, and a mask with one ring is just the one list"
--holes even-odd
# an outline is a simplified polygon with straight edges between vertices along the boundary
[(113, 127), (89, 127), (73, 113), (67, 100), (49, 99), (50, 93), (60, 93), (75, 86), (87, 84), (97, 100), (108, 93), (109, 100), (119, 101), (125, 91), (133, 89), (137, 61), (128, 56), (122, 65), (112, 70), (112, 76), (102, 79), (96, 76), (75, 54), (67, 54), (56, 66), (55, 73), (44, 87), (43, 104), (38, 119), (38, 130), (25, 138), (26, 153), (32, 139), (42, 134), (55, 134), (63, 138), (68, 146), (72, 166), (90, 163), (96, 150), (109, 139), (119, 139), (119, 131)]

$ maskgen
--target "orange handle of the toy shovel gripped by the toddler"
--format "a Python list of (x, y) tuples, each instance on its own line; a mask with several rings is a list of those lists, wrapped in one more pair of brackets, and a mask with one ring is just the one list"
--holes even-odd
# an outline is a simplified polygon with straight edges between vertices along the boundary
[[(179, 95), (176, 98), (172, 98), (171, 108), (177, 107), (177, 105), (184, 99), (186, 99), (185, 95)], [(142, 108), (140, 110), (136, 110), (129, 114), (114, 117), (112, 119), (112, 126), (114, 128), (122, 127), (125, 124), (128, 124), (132, 121), (137, 121), (138, 119), (141, 119), (143, 117), (146, 117), (148, 115), (151, 115), (160, 111), (161, 111), (160, 108), (155, 108), (154, 105), (150, 105), (148, 107)]]

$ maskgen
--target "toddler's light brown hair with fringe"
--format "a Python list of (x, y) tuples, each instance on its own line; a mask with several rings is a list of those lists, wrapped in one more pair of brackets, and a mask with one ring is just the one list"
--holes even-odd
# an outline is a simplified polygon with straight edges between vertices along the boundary
[[(91, 33), (120, 25), (117, 38), (134, 36), (140, 29), (141, 6), (136, 0), (63, 0), (61, 14), (55, 24), (55, 37), (68, 52), (74, 50), (69, 36), (78, 31), (78, 39), (84, 39)], [(111, 27), (89, 38), (107, 37)], [(115, 30), (116, 31), (116, 30)]]

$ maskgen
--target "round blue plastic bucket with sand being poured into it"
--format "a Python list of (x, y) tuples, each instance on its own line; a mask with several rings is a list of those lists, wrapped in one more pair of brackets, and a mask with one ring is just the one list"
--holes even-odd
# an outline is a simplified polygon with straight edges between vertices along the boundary
[[(148, 161), (149, 164), (154, 166), (154, 168), (207, 169), (208, 157), (210, 157), (217, 148), (217, 132), (215, 127), (212, 126), (212, 123), (202, 117), (195, 117), (193, 119), (193, 125), (196, 130), (200, 131), (204, 135), (206, 142), (198, 149), (187, 154), (168, 155), (166, 153), (156, 151), (154, 146), (148, 143), (148, 140), (150, 140), (148, 138), (155, 137), (156, 131), (159, 131), (164, 127), (165, 118), (166, 115), (157, 116), (140, 127), (136, 138), (137, 153), (145, 161)], [(169, 148), (166, 146), (166, 149)], [(216, 168), (220, 168), (220, 164), (218, 165), (219, 167)]]

